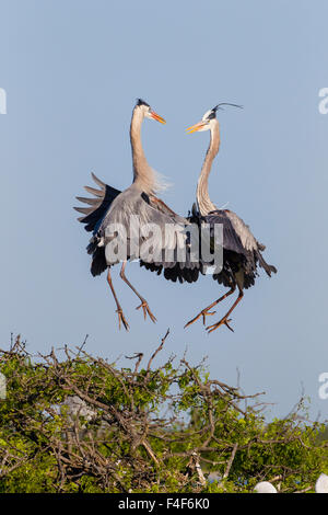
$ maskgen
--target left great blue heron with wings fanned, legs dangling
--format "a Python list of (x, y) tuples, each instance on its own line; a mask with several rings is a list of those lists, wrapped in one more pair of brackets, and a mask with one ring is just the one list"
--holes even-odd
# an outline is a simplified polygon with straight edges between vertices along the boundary
[[(141, 304), (137, 309), (143, 309), (144, 319), (147, 318), (147, 314), (149, 314), (153, 322), (156, 321), (147, 300), (137, 291), (125, 274), (127, 261), (136, 258), (131, 251), (131, 240), (132, 236), (136, 240), (136, 232), (131, 234), (131, 231), (139, 230), (136, 228), (131, 229), (131, 216), (138, 217), (141, 233), (142, 228), (145, 228), (147, 226), (149, 227), (150, 224), (155, 226), (155, 228), (160, 228), (161, 231), (160, 237), (157, 233), (157, 238), (152, 234), (152, 253), (148, 255), (145, 261), (142, 261), (144, 266), (157, 272), (164, 270), (167, 277), (177, 277), (180, 274), (186, 274), (187, 281), (196, 281), (199, 268), (197, 263), (191, 263), (190, 260), (188, 261), (187, 259), (186, 263), (183, 265), (185, 272), (180, 272), (181, 266), (175, 261), (177, 251), (183, 250), (183, 248), (185, 249), (187, 245), (187, 236), (184, 233), (184, 230), (188, 221), (176, 215), (166, 206), (166, 204), (155, 196), (155, 192), (159, 190), (160, 183), (155, 172), (145, 159), (141, 142), (141, 125), (144, 118), (152, 118), (165, 124), (164, 118), (156, 114), (147, 102), (141, 99), (137, 100), (130, 125), (133, 163), (133, 182), (131, 186), (124, 192), (120, 192), (119, 190), (108, 186), (92, 174), (101, 190), (84, 186), (89, 193), (95, 195), (95, 198), (77, 197), (79, 201), (89, 204), (91, 207), (75, 207), (78, 211), (84, 215), (79, 218), (79, 220), (86, 225), (85, 229), (87, 231), (93, 231), (93, 236), (86, 248), (87, 253), (92, 254), (91, 273), (93, 276), (96, 276), (108, 268), (107, 282), (117, 306), (119, 328), (122, 323), (126, 330), (129, 329), (129, 325), (116, 296), (110, 275), (110, 266), (119, 261), (122, 261), (120, 277), (141, 300)], [(183, 238), (178, 238), (176, 231), (168, 231), (168, 236), (167, 232), (164, 234), (164, 228), (169, 225), (174, 225), (175, 227), (177, 226), (177, 228), (180, 229)], [(127, 236), (127, 253), (125, 260), (115, 258), (108, 260), (108, 255), (106, 254), (106, 244), (113, 241), (113, 234), (112, 237), (108, 237), (106, 229), (113, 226), (120, 227), (121, 231)], [(138, 243), (149, 240), (149, 234), (140, 236), (140, 238), (139, 236), (140, 232), (138, 231)], [(171, 259), (165, 261), (167, 250), (171, 250), (172, 253)], [(159, 256), (161, 258), (159, 259)]]

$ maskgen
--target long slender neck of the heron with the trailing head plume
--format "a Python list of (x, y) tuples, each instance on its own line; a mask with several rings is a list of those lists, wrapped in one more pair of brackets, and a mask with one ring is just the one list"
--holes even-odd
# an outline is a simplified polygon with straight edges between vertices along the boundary
[(202, 216), (208, 215), (210, 211), (216, 209), (216, 206), (211, 202), (209, 195), (209, 175), (213, 159), (219, 152), (220, 147), (220, 129), (219, 123), (215, 123), (211, 128), (211, 141), (208, 148), (202, 169), (197, 183), (197, 204), (199, 211)]

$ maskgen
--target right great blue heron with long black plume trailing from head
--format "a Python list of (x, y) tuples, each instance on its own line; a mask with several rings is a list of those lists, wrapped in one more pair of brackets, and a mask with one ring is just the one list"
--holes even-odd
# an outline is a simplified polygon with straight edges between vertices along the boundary
[(241, 107), (236, 104), (218, 104), (212, 110), (207, 111), (199, 123), (187, 128), (189, 134), (203, 130), (210, 130), (211, 133), (210, 146), (197, 184), (198, 214), (195, 216), (196, 218), (198, 216), (199, 224), (210, 224), (211, 227), (215, 224), (223, 225), (223, 268), (220, 273), (213, 274), (213, 279), (218, 281), (219, 284), (223, 284), (225, 287), (229, 287), (230, 290), (210, 306), (202, 309), (200, 313), (198, 313), (185, 327), (190, 325), (200, 317), (202, 317), (203, 323), (206, 323), (206, 317), (214, 314), (214, 312), (211, 312), (210, 310), (227, 296), (232, 295), (236, 287), (238, 288), (238, 297), (231, 309), (219, 322), (207, 328), (209, 332), (214, 331), (222, 324), (225, 324), (231, 331), (233, 331), (229, 324), (229, 316), (242, 300), (244, 288), (249, 288), (255, 284), (255, 278), (258, 275), (257, 264), (265, 268), (269, 276), (271, 276), (272, 272), (277, 273), (277, 268), (272, 265), (268, 265), (263, 260), (261, 252), (265, 250), (265, 245), (255, 239), (249, 227), (246, 226), (246, 224), (235, 213), (229, 209), (218, 209), (210, 199), (208, 187), (209, 174), (211, 172), (213, 159), (218, 154), (220, 147), (220, 126), (216, 119), (216, 111), (222, 105), (234, 105), (236, 107)]

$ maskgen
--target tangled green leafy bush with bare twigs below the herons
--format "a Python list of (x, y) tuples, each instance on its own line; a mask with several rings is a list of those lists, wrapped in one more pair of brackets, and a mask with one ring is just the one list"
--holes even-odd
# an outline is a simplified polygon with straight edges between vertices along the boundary
[(304, 401), (268, 423), (258, 394), (210, 379), (204, 363), (154, 368), (165, 337), (131, 368), (83, 346), (33, 358), (19, 337), (1, 351), (0, 492), (314, 491), (328, 448)]

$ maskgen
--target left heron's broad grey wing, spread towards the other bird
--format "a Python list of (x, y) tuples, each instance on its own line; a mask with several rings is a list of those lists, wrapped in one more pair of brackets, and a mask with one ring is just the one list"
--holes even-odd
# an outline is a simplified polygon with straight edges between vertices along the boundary
[[(115, 226), (124, 230), (117, 231)], [(92, 273), (101, 273), (106, 263), (110, 266), (122, 259), (140, 259), (141, 265), (157, 273), (175, 268), (171, 274), (176, 281), (181, 268), (199, 268), (199, 263), (191, 258), (192, 238), (186, 218), (178, 217), (160, 199), (150, 198), (132, 184), (113, 202), (90, 241), (87, 251), (94, 262)], [(191, 281), (191, 275), (196, 275), (186, 274), (185, 281)]]

